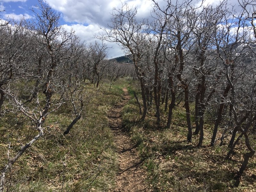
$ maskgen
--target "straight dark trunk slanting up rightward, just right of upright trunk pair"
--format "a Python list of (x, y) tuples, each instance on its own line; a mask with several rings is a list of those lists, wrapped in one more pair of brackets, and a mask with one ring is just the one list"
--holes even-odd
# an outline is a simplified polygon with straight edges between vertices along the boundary
[(217, 119), (216, 119), (216, 122), (215, 122), (215, 125), (214, 125), (214, 129), (213, 129), (213, 133), (212, 133), (211, 147), (213, 147), (214, 144), (215, 144), (215, 138), (216, 138), (216, 135), (217, 135), (218, 126), (220, 124), (220, 120), (221, 120), (221, 117), (222, 117), (221, 114), (222, 114), (222, 110), (224, 108), (224, 100), (226, 99), (229, 90), (230, 90), (230, 84), (227, 85), (227, 87), (226, 87), (226, 89), (223, 93), (223, 97), (220, 101), (221, 104), (220, 104), (220, 107), (219, 107), (218, 116), (217, 116)]

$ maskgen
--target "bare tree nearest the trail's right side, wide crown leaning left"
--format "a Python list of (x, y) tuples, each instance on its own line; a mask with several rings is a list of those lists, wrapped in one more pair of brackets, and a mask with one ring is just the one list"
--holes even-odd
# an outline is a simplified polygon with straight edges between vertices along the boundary
[(118, 43), (127, 54), (131, 54), (136, 75), (140, 81), (141, 95), (143, 100), (143, 114), (141, 119), (145, 119), (147, 113), (147, 100), (145, 94), (145, 67), (142, 59), (147, 53), (147, 33), (144, 31), (145, 21), (136, 20), (137, 9), (129, 8), (123, 4), (121, 8), (113, 9), (112, 22), (109, 24), (110, 30), (104, 29), (105, 34), (98, 38), (109, 42)]

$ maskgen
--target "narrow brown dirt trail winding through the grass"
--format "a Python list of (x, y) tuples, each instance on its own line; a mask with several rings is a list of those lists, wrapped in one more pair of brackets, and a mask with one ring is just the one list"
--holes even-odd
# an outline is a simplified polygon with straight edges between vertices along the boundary
[(121, 111), (129, 101), (130, 96), (126, 88), (123, 89), (124, 98), (109, 111), (109, 127), (114, 133), (116, 152), (118, 153), (119, 173), (116, 178), (115, 192), (150, 191), (145, 182), (146, 173), (141, 168), (136, 146), (124, 130)]

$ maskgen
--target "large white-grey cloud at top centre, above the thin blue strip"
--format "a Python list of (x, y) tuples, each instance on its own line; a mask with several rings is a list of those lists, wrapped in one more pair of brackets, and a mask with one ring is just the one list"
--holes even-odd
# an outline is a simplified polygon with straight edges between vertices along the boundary
[[(110, 22), (113, 7), (121, 6), (119, 0), (46, 0), (46, 2), (62, 12), (65, 21), (101, 26), (106, 26)], [(150, 14), (151, 1), (130, 0), (127, 4), (138, 8), (138, 17), (148, 17)]]

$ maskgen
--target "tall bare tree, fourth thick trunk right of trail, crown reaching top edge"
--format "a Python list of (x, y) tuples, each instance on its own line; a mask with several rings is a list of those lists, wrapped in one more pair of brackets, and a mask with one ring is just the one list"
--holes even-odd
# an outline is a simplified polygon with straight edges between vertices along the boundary
[[(170, 1), (167, 2), (167, 9), (163, 11), (160, 9), (159, 5), (156, 6), (160, 11), (164, 12), (166, 15), (171, 15), (172, 17), (168, 21), (168, 45), (169, 49), (173, 50), (175, 65), (177, 74), (176, 77), (180, 81), (182, 88), (185, 93), (185, 108), (186, 117), (188, 124), (188, 142), (192, 141), (192, 127), (190, 120), (190, 109), (189, 109), (189, 83), (188, 83), (188, 68), (184, 70), (184, 66), (187, 64), (186, 56), (188, 55), (191, 47), (193, 46), (193, 41), (191, 32), (195, 28), (196, 18), (189, 18), (190, 11), (196, 9), (195, 5), (190, 4), (191, 1), (183, 1), (180, 4), (172, 4)], [(188, 66), (188, 65), (187, 65)], [(173, 87), (173, 86), (172, 86)]]

